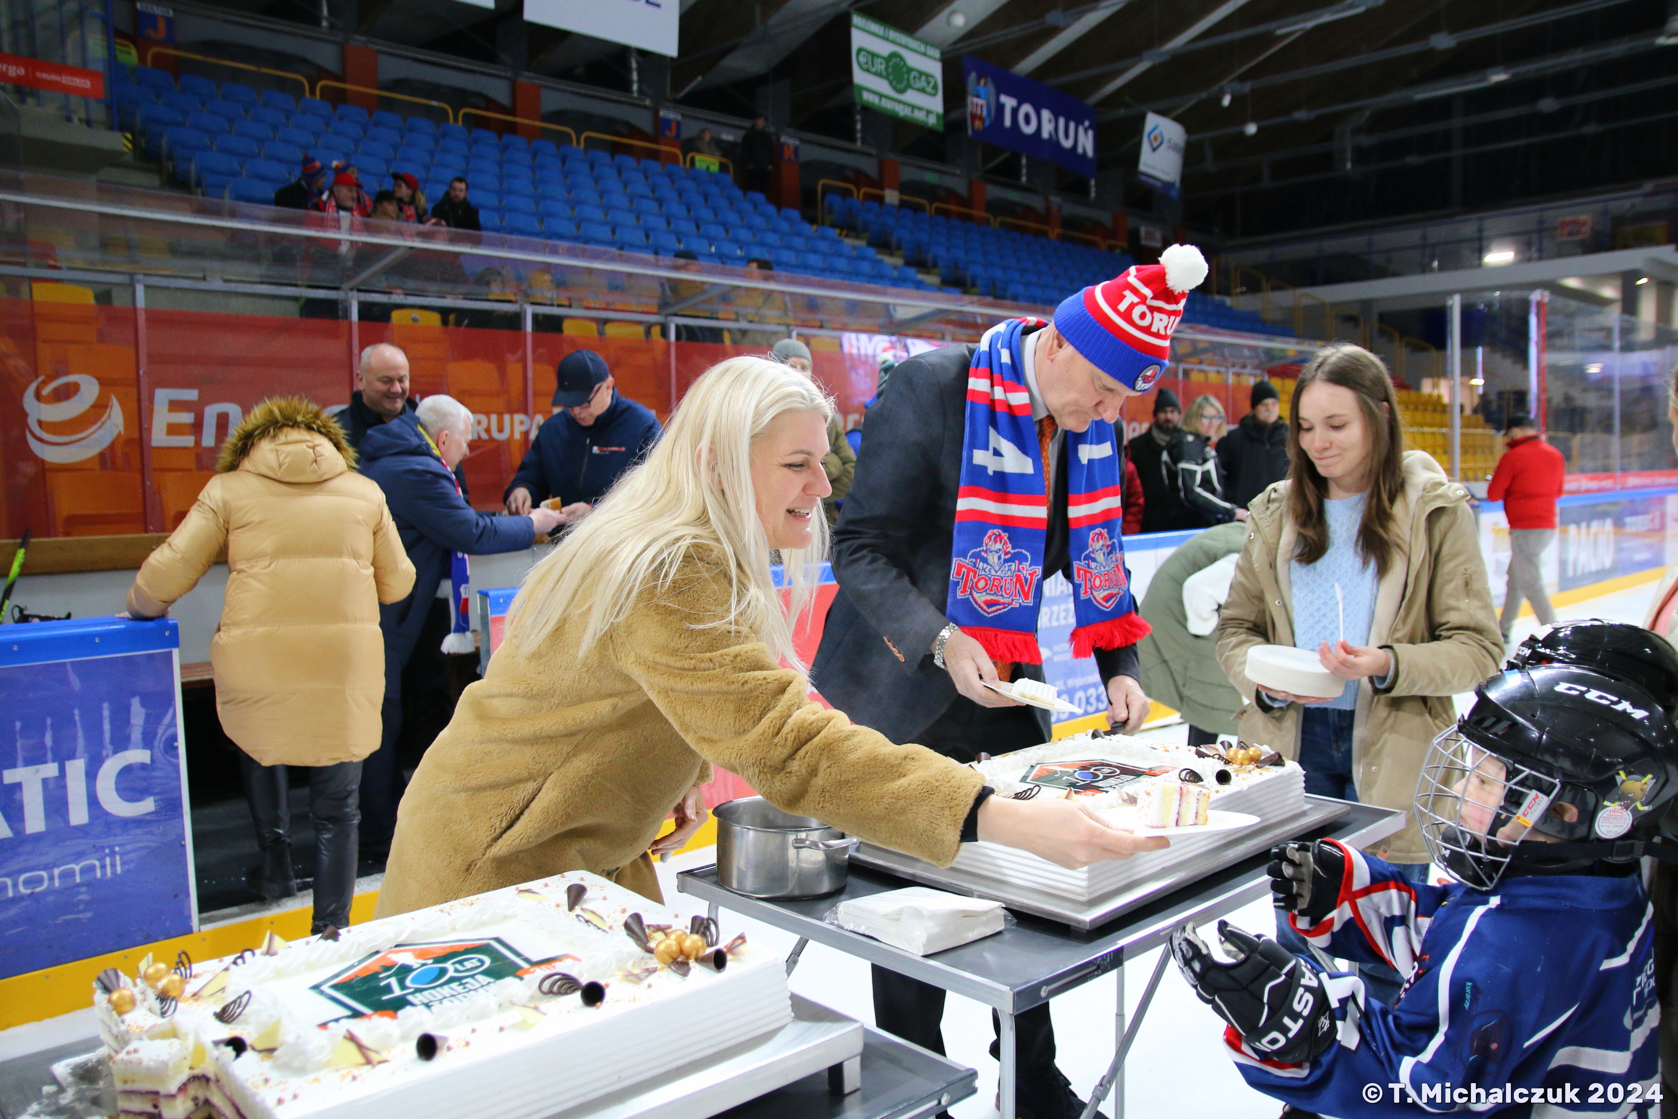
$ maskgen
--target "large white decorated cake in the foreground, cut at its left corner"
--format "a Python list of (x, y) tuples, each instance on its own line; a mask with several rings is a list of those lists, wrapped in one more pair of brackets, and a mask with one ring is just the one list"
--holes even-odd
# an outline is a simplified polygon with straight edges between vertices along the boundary
[(554, 1116), (792, 1017), (780, 960), (581, 871), (107, 970), (94, 1007), (121, 1112), (169, 1119)]

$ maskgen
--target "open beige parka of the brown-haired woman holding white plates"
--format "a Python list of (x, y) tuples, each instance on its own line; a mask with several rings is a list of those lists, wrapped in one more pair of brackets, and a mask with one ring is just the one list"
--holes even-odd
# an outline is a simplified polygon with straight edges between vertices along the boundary
[[(1248, 648), (1294, 644), (1290, 485), (1277, 481), (1252, 502), (1247, 549), (1235, 564), (1215, 638), (1223, 673), (1247, 700), (1242, 742), (1297, 758), (1302, 705), (1258, 706), (1245, 671)], [(1503, 641), (1468, 490), (1450, 481), (1425, 451), (1408, 451), (1394, 517), (1404, 527), (1401, 550), (1376, 586), (1369, 626), (1369, 644), (1391, 649), (1394, 669), (1386, 688), (1378, 691), (1368, 679), (1358, 688), (1352, 770), (1359, 800), (1408, 814), (1404, 830), (1383, 841), (1376, 854), (1426, 862), (1411, 812), (1423, 757), (1435, 735), (1457, 721), (1451, 696), (1497, 673)]]

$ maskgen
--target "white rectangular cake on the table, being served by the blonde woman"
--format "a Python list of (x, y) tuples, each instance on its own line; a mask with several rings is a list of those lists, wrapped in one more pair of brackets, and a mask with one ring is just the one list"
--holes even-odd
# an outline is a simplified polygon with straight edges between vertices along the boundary
[[(1188, 804), (1195, 819), (1200, 819), (1203, 805), (1205, 810), (1247, 812), (1265, 822), (1299, 815), (1305, 809), (1305, 772), (1258, 748), (1232, 748), (1228, 755), (1217, 755), (1126, 735), (1097, 738), (1084, 733), (975, 762), (973, 768), (997, 795), (1071, 794), (1121, 827), (1161, 827), (1168, 805), (1175, 815)], [(1081, 778), (1081, 773), (1089, 777)], [(1196, 792), (1185, 794), (1185, 789)], [(1188, 817), (1176, 815), (1176, 820), (1186, 822)], [(1092, 901), (1156, 872), (1161, 864), (1193, 859), (1228, 841), (1227, 832), (1188, 832), (1173, 837), (1165, 851), (1096, 862), (1081, 871), (1067, 871), (1014, 847), (977, 842), (961, 844), (953, 866), (968, 874), (1027, 882), (1044, 893)]]

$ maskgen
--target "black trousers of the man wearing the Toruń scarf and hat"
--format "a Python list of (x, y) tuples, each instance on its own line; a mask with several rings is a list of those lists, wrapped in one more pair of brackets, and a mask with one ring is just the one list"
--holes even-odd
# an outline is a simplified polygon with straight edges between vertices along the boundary
[[(967, 763), (983, 753), (1008, 753), (1042, 743), (1047, 735), (1032, 708), (982, 708), (956, 696), (931, 726), (913, 738), (928, 750)], [(874, 1025), (943, 1055), (945, 991), (931, 983), (874, 966)], [(995, 1023), (997, 1015), (990, 1015)], [(1047, 1080), (1054, 1070), (1054, 1025), (1049, 1003), (1014, 1018), (1015, 1070), (1020, 1085)], [(995, 1042), (990, 1055), (998, 1055)]]

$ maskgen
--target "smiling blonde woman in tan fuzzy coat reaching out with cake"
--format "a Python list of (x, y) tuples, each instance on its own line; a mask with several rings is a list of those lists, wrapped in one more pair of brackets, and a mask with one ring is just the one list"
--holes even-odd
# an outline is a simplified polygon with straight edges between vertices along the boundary
[(705, 820), (711, 763), (940, 866), (975, 837), (1069, 867), (1165, 846), (1069, 800), (990, 797), (972, 768), (810, 701), (792, 619), (827, 544), (831, 418), (809, 374), (762, 357), (695, 383), (646, 461), (530, 572), (408, 785), (379, 916), (576, 869), (658, 899), (648, 852)]

